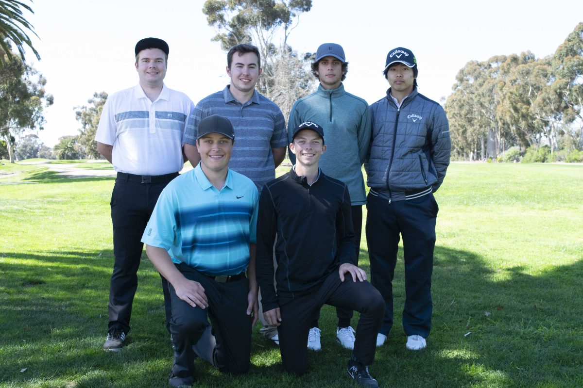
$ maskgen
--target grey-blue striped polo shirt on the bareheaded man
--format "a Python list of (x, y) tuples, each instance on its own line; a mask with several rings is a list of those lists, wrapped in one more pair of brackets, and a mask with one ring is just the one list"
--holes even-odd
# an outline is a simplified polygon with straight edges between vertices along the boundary
[(235, 129), (235, 145), (229, 168), (251, 179), (259, 191), (275, 179), (272, 148), (287, 147), (286, 122), (279, 106), (255, 90), (251, 99), (241, 104), (229, 86), (203, 98), (189, 118), (185, 143), (196, 145), (196, 129), (202, 119), (220, 115)]

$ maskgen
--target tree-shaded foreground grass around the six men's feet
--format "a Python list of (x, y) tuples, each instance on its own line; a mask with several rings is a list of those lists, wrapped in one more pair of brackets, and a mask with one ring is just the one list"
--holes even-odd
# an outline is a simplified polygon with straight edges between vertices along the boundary
[[(172, 351), (164, 328), (160, 277), (145, 255), (132, 331), (119, 353), (101, 350), (111, 251), (13, 256), (0, 257), (3, 384), (167, 386)], [(578, 312), (583, 311), (583, 261), (532, 276), (519, 267), (490, 269), (472, 252), (436, 247), (435, 256), (433, 331), (428, 348), (417, 352), (404, 346), (399, 258), (395, 325), (370, 368), (381, 386), (581, 386), (583, 322)], [(322, 351), (308, 353), (310, 371), (301, 378), (283, 373), (278, 348), (256, 327), (250, 373), (222, 375), (197, 359), (197, 386), (354, 387), (344, 370), (351, 351), (336, 342), (336, 320), (334, 308), (322, 308)]]

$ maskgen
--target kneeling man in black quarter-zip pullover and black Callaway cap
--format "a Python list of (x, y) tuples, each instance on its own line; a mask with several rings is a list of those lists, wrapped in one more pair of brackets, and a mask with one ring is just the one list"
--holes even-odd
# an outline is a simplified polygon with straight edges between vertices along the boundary
[[(290, 150), (296, 165), (267, 183), (259, 199), (257, 282), (266, 321), (279, 331), (283, 367), (303, 375), (311, 319), (324, 304), (360, 312), (356, 341), (346, 370), (366, 387), (378, 387), (368, 373), (373, 363), (384, 300), (356, 265), (350, 195), (346, 184), (318, 168), (326, 151), (324, 129), (301, 123)], [(277, 291), (273, 287), (273, 243)]]

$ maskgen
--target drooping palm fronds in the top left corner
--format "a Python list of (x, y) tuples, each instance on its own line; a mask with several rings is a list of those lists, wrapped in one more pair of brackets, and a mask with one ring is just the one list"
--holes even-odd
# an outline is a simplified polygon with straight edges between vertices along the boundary
[(16, 45), (22, 60), (24, 60), (24, 45), (30, 47), (36, 58), (40, 59), (40, 55), (34, 49), (29, 35), (26, 34), (25, 30), (29, 30), (36, 37), (38, 35), (34, 32), (33, 26), (24, 19), (22, 8), (34, 13), (32, 8), (23, 2), (0, 0), (0, 49), (4, 51), (7, 57), (5, 58), (4, 55), (0, 55), (0, 67), (3, 67), (7, 60), (12, 60), (10, 41)]

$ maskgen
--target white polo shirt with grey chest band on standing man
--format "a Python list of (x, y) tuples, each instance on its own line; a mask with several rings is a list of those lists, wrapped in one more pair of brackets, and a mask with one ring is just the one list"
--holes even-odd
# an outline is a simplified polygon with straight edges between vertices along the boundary
[(95, 140), (113, 145), (115, 171), (136, 175), (177, 172), (184, 166), (184, 130), (192, 112), (194, 104), (186, 94), (164, 85), (152, 102), (138, 84), (107, 98)]

